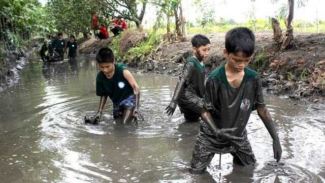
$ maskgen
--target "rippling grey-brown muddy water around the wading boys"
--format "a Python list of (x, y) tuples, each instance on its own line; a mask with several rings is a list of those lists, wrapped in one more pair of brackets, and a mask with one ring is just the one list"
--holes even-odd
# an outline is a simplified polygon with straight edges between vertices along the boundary
[(145, 121), (122, 126), (107, 102), (102, 123), (83, 124), (95, 114), (93, 57), (43, 64), (34, 58), (20, 83), (0, 93), (0, 182), (324, 182), (325, 114), (266, 96), (282, 144), (282, 164), (273, 160), (272, 140), (253, 112), (247, 125), (256, 167), (235, 166), (216, 155), (208, 174), (187, 168), (199, 129), (184, 123), (177, 108), (164, 109), (177, 78), (134, 74), (141, 87)]

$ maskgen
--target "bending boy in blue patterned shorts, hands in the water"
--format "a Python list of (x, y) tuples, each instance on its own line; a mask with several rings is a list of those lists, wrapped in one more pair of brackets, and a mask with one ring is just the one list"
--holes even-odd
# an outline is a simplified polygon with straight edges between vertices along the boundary
[(140, 89), (128, 68), (124, 64), (115, 63), (115, 56), (110, 48), (100, 49), (96, 60), (101, 69), (96, 77), (96, 95), (101, 97), (101, 101), (97, 114), (88, 120), (92, 124), (101, 120), (107, 96), (113, 102), (114, 118), (122, 116), (122, 123), (129, 124), (133, 121), (133, 116), (138, 114), (143, 120), (139, 110)]

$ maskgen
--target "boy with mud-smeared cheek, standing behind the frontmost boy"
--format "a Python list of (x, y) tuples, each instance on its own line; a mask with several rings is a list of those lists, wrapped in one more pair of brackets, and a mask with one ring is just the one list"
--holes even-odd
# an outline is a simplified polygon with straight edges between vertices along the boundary
[(178, 104), (186, 120), (198, 121), (204, 95), (205, 66), (203, 60), (209, 58), (211, 44), (210, 40), (203, 35), (195, 35), (191, 43), (194, 55), (189, 57), (183, 66), (173, 99), (166, 110), (168, 115), (173, 115)]

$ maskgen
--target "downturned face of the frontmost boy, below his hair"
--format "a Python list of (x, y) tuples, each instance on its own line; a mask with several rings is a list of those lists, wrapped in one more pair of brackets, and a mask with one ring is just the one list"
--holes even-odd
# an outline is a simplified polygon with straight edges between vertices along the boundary
[(228, 53), (226, 49), (223, 49), (223, 54), (228, 57), (228, 65), (230, 68), (237, 72), (242, 72), (253, 57), (253, 55), (246, 56), (243, 52)]

